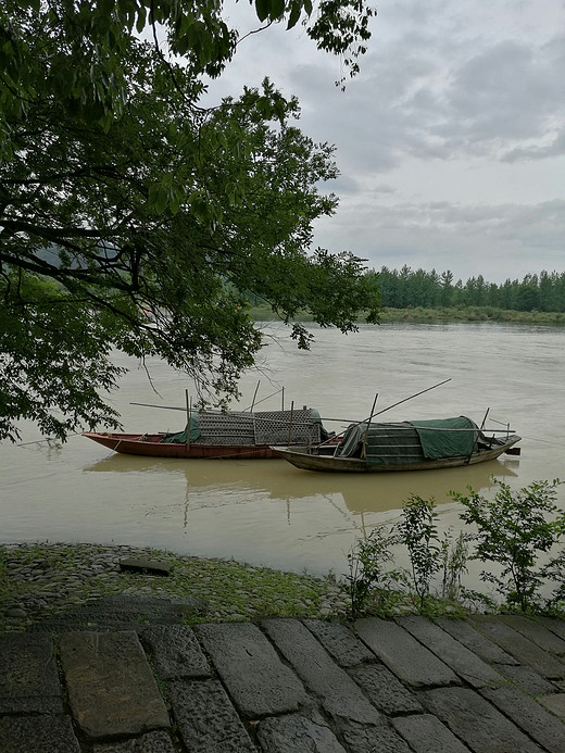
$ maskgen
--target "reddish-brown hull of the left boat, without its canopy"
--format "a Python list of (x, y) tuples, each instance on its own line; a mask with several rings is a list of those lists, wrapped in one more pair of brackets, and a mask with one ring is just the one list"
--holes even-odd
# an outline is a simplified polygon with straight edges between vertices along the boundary
[(146, 455), (150, 457), (184, 457), (184, 459), (266, 459), (278, 457), (276, 450), (268, 444), (178, 444), (163, 442), (163, 435), (139, 434), (96, 434), (85, 432), (87, 437), (99, 444), (126, 455)]

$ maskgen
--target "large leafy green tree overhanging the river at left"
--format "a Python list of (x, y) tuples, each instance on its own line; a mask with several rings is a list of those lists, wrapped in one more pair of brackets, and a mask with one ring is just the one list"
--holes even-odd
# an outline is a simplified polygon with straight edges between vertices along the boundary
[[(294, 125), (265, 80), (203, 109), (205, 77), (235, 54), (223, 3), (8, 0), (0, 9), (0, 439), (32, 418), (64, 439), (116, 426), (100, 392), (113, 349), (158, 355), (202, 399), (237, 393), (261, 336), (243, 296), (287, 323), (378, 317), (374, 277), (311, 252), (332, 148)], [(299, 21), (351, 74), (368, 38), (362, 0), (256, 0), (265, 26)], [(142, 41), (150, 33), (154, 42)], [(163, 38), (166, 45), (163, 48)], [(299, 347), (310, 336), (292, 325)]]

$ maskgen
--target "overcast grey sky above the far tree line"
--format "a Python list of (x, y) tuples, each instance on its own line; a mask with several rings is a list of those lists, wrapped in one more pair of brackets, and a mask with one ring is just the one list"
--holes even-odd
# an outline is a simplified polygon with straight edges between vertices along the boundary
[[(315, 244), (464, 281), (565, 271), (565, 4), (376, 0), (346, 92), (303, 30), (252, 35), (214, 95), (269, 76), (301, 129), (336, 145), (337, 213)], [(246, 0), (226, 9), (249, 14)], [(238, 24), (244, 26), (242, 18)]]

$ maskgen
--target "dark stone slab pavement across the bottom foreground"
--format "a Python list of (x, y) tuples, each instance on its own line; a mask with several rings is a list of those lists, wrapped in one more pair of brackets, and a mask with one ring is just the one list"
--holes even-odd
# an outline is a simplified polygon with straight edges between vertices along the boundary
[(564, 657), (517, 615), (90, 615), (0, 637), (0, 751), (565, 753)]

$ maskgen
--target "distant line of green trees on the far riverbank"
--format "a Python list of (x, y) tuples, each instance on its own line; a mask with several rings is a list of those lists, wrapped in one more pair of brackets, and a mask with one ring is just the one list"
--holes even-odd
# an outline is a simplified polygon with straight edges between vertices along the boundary
[(381, 304), (390, 309), (492, 306), (510, 311), (565, 312), (565, 272), (541, 272), (524, 279), (506, 279), (501, 285), (488, 283), (482, 275), (456, 283), (449, 269), (412, 269), (400, 272), (381, 267), (368, 274), (378, 275)]

